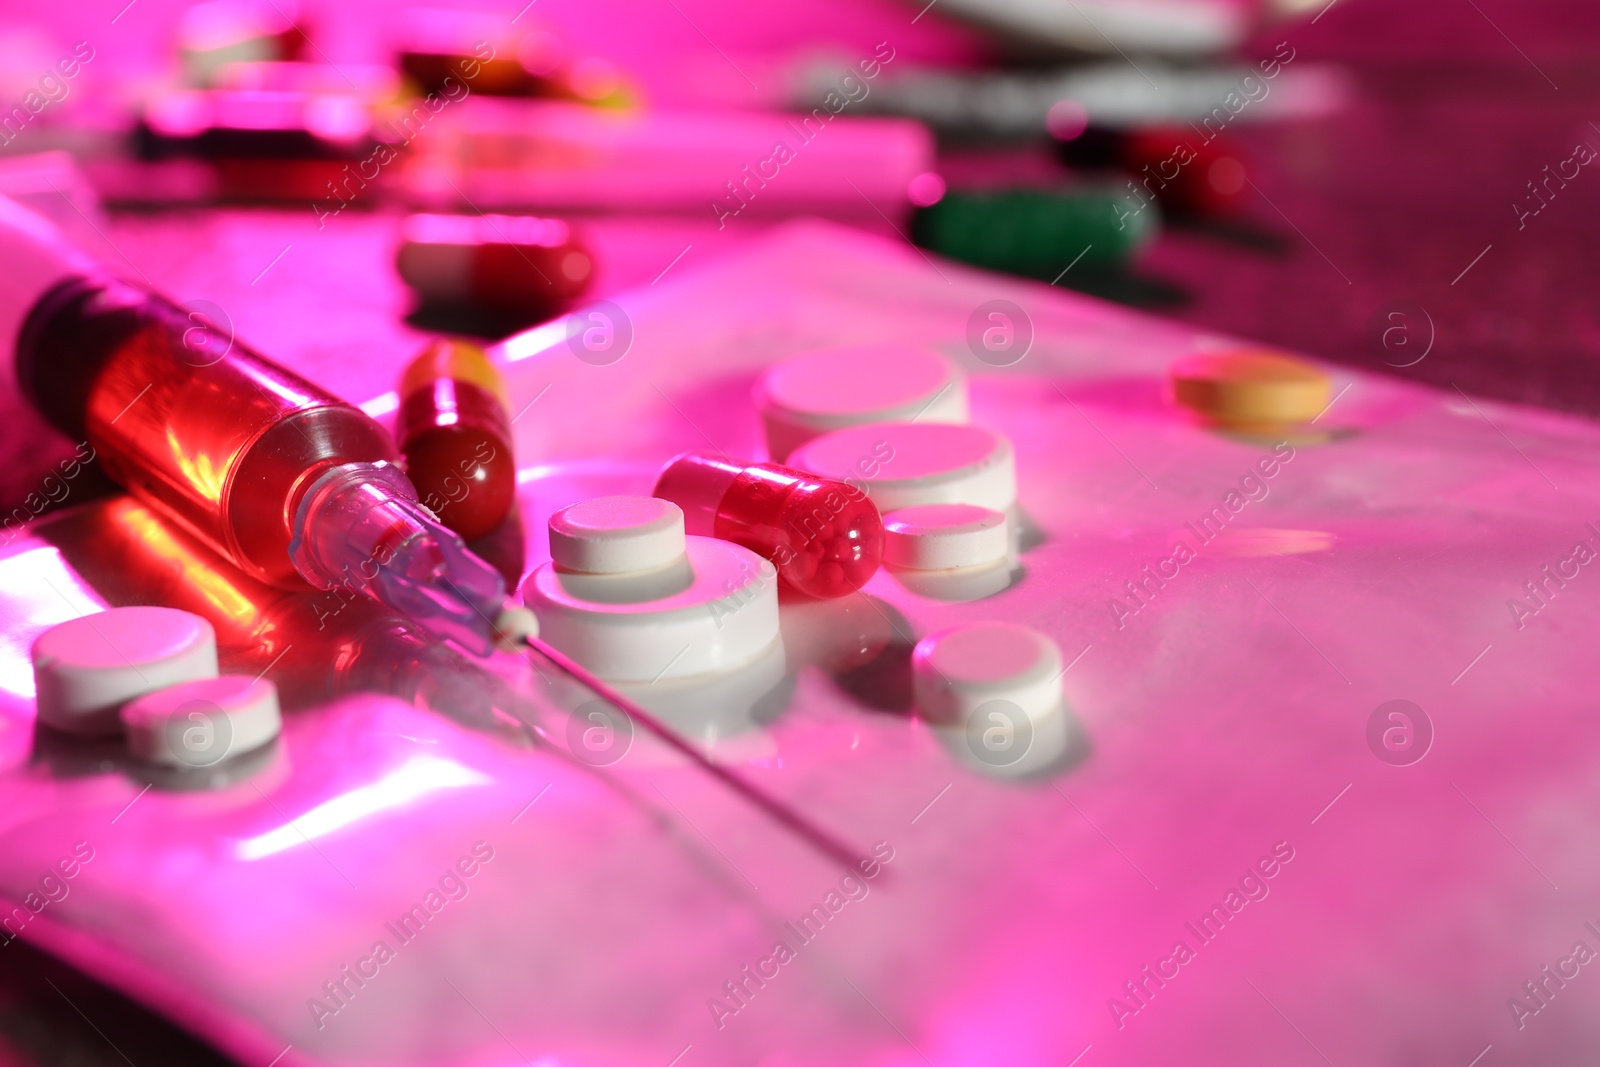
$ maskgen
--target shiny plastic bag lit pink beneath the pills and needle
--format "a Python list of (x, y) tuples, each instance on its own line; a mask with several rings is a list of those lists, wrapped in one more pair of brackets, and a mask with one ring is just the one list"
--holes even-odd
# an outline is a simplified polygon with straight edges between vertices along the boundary
[[(965, 341), (990, 299), (1034, 326), (1003, 368)], [(1600, 947), (1594, 426), (1334, 371), (1304, 435), (1222, 437), (1163, 400), (1221, 339), (822, 226), (616, 302), (611, 363), (510, 346), (512, 408), (550, 387), (515, 426), (526, 566), (557, 507), (707, 438), (755, 454), (754, 376), (818, 344), (936, 346), (1016, 445), (1011, 589), (880, 573), (784, 605), (782, 680), (637, 694), (882, 841), (878, 875), (842, 883), (646, 736), (574, 757), (589, 697), (512, 657), (363, 605), (318, 630), (114, 501), (0, 557), (0, 893), (59, 897), (22, 937), (253, 1064), (1586, 1062), (1600, 981), (1523, 984)], [(85, 601), (211, 617), (224, 670), (285, 691), (283, 739), (197, 789), (35, 734), (27, 641)], [(1069, 664), (1029, 776), (909, 713), (910, 645), (973, 619)], [(1397, 699), (1421, 715), (1374, 718)]]

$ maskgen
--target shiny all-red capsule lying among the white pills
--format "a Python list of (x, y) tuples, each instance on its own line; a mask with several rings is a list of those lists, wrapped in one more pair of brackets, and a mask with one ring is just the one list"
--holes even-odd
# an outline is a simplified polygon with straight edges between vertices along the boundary
[(806, 597), (832, 598), (867, 584), (883, 561), (883, 520), (866, 493), (778, 464), (683, 453), (654, 494), (683, 509), (691, 534), (722, 537), (766, 557)]

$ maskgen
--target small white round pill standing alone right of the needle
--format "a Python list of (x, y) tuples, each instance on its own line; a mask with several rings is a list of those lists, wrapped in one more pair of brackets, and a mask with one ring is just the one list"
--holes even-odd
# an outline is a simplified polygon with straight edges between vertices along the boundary
[(1061, 705), (1061, 648), (1026, 625), (965, 622), (930, 633), (910, 662), (917, 707), (934, 723), (965, 723), (990, 701), (1035, 721)]

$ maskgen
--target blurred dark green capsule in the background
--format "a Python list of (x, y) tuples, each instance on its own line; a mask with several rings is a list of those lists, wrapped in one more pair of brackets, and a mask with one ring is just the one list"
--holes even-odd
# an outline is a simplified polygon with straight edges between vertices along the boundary
[(949, 192), (912, 219), (912, 240), (978, 267), (1053, 282), (1114, 270), (1155, 237), (1154, 200), (1112, 189)]

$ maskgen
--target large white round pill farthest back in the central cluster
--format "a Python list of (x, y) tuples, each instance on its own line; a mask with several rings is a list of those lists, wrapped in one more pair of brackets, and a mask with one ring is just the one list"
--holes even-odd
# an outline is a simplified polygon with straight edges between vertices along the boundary
[(938, 352), (906, 344), (824, 349), (774, 363), (755, 382), (766, 451), (861, 422), (966, 422), (966, 382)]

